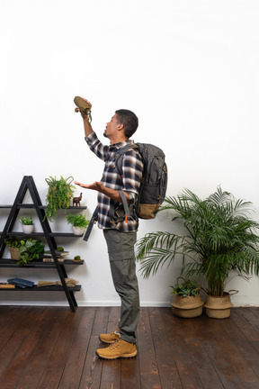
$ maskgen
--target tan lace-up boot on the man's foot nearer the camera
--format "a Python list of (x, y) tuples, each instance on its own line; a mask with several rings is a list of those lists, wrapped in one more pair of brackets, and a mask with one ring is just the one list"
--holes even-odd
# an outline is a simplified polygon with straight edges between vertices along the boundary
[(117, 340), (108, 348), (98, 348), (96, 355), (103, 359), (117, 359), (119, 357), (136, 357), (136, 344), (126, 342), (125, 340)]

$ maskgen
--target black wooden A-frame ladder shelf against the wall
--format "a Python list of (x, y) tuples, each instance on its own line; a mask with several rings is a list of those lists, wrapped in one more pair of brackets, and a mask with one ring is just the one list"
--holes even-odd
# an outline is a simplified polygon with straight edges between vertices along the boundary
[[(29, 190), (29, 193), (31, 195), (31, 199), (33, 204), (22, 204), (23, 199)], [(0, 205), (0, 208), (11, 208), (11, 211), (9, 213), (9, 216), (7, 218), (7, 221), (4, 225), (4, 231), (0, 232), (1, 233), (1, 238), (0, 238), (0, 267), (18, 267), (17, 263), (13, 261), (12, 259), (4, 259), (3, 254), (4, 254), (4, 249), (6, 247), (6, 244), (4, 240), (9, 237), (9, 236), (24, 236), (25, 234), (22, 232), (13, 232), (13, 226), (14, 223), (17, 219), (18, 213), (21, 209), (24, 208), (33, 208), (36, 210), (36, 213), (38, 215), (38, 218), (40, 220), (41, 228), (43, 232), (32, 232), (30, 236), (33, 237), (45, 237), (47, 240), (47, 243), (49, 245), (49, 250), (52, 255), (52, 258), (54, 260), (53, 263), (50, 262), (38, 262), (34, 261), (31, 262), (28, 265), (25, 265), (24, 267), (21, 268), (57, 268), (58, 270), (58, 276), (61, 281), (62, 286), (44, 286), (38, 288), (37, 286), (33, 286), (32, 288), (25, 288), (25, 289), (19, 289), (19, 291), (23, 290), (31, 290), (31, 291), (64, 291), (67, 297), (67, 302), (69, 303), (70, 309), (72, 312), (76, 312), (76, 298), (74, 295), (74, 292), (80, 291), (81, 285), (76, 285), (74, 287), (67, 287), (65, 278), (67, 278), (67, 271), (65, 268), (65, 265), (83, 265), (84, 261), (81, 261), (79, 264), (73, 262), (72, 260), (66, 259), (64, 262), (59, 262), (58, 257), (56, 254), (56, 249), (57, 249), (57, 243), (55, 240), (55, 237), (80, 237), (74, 235), (73, 233), (60, 233), (60, 232), (52, 232), (49, 226), (49, 221), (47, 218), (44, 219), (45, 216), (45, 211), (44, 209), (46, 208), (44, 205), (41, 204), (40, 201), (40, 195), (38, 193), (38, 190), (36, 188), (36, 185), (34, 183), (33, 177), (32, 176), (23, 176), (22, 179), (22, 184), (18, 190), (18, 193), (16, 195), (16, 198), (14, 200), (13, 205)], [(85, 209), (86, 207), (69, 207), (69, 209)], [(28, 236), (28, 235), (26, 235)], [(2, 291), (17, 291), (18, 289), (1, 289)]]

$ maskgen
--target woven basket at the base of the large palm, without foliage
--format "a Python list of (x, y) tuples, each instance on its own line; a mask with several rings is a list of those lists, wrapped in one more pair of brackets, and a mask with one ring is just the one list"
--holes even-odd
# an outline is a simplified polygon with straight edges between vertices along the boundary
[(230, 316), (232, 306), (230, 294), (226, 293), (221, 297), (206, 295), (205, 312), (212, 319), (227, 319)]

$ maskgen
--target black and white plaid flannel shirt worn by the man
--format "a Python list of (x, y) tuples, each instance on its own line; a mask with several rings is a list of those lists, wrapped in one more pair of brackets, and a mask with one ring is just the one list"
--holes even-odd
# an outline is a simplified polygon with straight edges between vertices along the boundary
[[(133, 140), (125, 140), (111, 146), (104, 146), (97, 138), (95, 132), (92, 132), (85, 138), (88, 146), (94, 154), (103, 159), (105, 166), (103, 169), (102, 182), (114, 190), (121, 190), (129, 195), (129, 204), (135, 204), (138, 199), (138, 190), (142, 178), (143, 163), (138, 150), (129, 149), (122, 156), (122, 176), (120, 176), (116, 165), (114, 152), (121, 149), (126, 144), (133, 144)], [(98, 193), (98, 227), (101, 229), (117, 229), (123, 232), (132, 232), (138, 230), (138, 221), (129, 220), (112, 224), (110, 212), (111, 199), (107, 195)], [(120, 203), (114, 203), (114, 207)]]

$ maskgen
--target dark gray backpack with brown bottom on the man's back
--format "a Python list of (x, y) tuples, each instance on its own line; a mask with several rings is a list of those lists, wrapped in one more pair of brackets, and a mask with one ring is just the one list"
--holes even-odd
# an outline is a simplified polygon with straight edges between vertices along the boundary
[[(115, 164), (120, 175), (122, 175), (121, 157), (129, 149), (138, 149), (142, 158), (144, 170), (139, 189), (138, 201), (137, 204), (135, 204), (134, 211), (129, 209), (125, 195), (120, 192), (123, 201), (124, 212), (126, 213), (126, 219), (135, 219), (136, 215), (140, 219), (155, 219), (159, 207), (165, 200), (165, 193), (167, 188), (167, 167), (165, 164), (165, 153), (162, 149), (159, 149), (152, 144), (136, 143), (133, 145), (126, 145), (115, 153)], [(117, 213), (120, 213), (119, 210), (117, 210)], [(120, 214), (119, 219), (121, 219), (121, 217), (123, 216)]]

